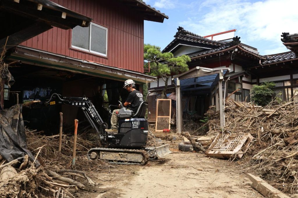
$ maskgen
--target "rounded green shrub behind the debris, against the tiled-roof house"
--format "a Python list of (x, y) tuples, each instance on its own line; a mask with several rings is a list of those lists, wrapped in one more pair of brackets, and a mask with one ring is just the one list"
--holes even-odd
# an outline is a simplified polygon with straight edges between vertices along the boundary
[(257, 105), (266, 106), (272, 101), (272, 94), (275, 93), (273, 91), (274, 87), (275, 83), (273, 82), (265, 82), (261, 85), (253, 85), (250, 92), (251, 100), (253, 100)]

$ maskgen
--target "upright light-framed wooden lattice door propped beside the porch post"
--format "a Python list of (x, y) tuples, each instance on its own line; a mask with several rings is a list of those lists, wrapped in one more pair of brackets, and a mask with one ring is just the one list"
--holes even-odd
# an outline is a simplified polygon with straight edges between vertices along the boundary
[(155, 131), (170, 129), (171, 108), (171, 99), (157, 99)]

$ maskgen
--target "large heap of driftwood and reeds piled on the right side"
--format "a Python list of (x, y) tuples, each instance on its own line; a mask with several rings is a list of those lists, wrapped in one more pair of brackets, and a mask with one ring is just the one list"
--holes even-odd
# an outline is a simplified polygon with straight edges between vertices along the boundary
[[(223, 132), (250, 133), (249, 150), (237, 161), (243, 172), (255, 172), (275, 188), (298, 193), (298, 104), (285, 102), (265, 107), (226, 100)], [(208, 135), (221, 131), (219, 113), (211, 108)]]

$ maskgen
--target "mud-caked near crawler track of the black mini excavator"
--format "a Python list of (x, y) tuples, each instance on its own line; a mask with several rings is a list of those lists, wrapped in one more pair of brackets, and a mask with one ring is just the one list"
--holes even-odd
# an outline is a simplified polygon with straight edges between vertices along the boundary
[(121, 148), (91, 148), (87, 157), (90, 160), (105, 159), (112, 164), (137, 164), (144, 165), (149, 156), (145, 150)]

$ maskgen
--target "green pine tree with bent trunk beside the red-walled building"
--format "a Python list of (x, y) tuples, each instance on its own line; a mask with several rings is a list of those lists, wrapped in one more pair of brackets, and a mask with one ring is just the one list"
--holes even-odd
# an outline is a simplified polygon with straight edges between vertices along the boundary
[(160, 51), (160, 47), (150, 44), (144, 45), (144, 67), (148, 68), (150, 62), (150, 75), (161, 77), (165, 87), (162, 90), (162, 99), (167, 91), (168, 80), (171, 75), (177, 75), (188, 71), (187, 62), (190, 62), (189, 56), (182, 55), (174, 57), (173, 53)]

